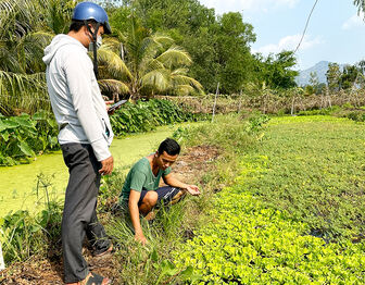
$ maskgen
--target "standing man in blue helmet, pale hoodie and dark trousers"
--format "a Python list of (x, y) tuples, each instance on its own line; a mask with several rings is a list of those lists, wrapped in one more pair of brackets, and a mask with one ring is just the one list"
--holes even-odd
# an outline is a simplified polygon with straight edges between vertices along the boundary
[[(113, 132), (101, 97), (88, 48), (99, 47), (111, 34), (105, 11), (92, 2), (76, 5), (70, 32), (58, 35), (45, 49), (47, 85), (59, 124), (59, 142), (70, 179), (62, 216), (62, 249), (66, 284), (110, 284), (89, 272), (81, 250), (85, 235), (101, 256), (112, 250), (96, 207), (100, 175), (111, 174), (109, 146)], [(93, 48), (96, 57), (96, 48)]]

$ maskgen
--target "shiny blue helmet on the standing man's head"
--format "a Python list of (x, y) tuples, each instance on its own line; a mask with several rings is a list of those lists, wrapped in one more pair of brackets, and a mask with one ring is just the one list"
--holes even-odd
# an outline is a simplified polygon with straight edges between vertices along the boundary
[(95, 20), (96, 22), (104, 26), (105, 34), (112, 33), (105, 10), (92, 2), (78, 3), (74, 9), (72, 20), (76, 21)]

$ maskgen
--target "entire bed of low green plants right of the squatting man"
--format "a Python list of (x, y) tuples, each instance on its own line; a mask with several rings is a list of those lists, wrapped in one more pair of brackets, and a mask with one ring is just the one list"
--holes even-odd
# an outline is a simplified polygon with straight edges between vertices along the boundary
[(239, 173), (176, 267), (199, 284), (364, 284), (365, 241), (351, 240), (363, 232), (363, 125), (277, 117), (260, 137), (236, 151)]

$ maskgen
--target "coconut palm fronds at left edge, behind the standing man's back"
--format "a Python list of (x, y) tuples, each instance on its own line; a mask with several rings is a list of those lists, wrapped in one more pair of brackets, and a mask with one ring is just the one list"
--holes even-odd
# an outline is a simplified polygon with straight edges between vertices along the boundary
[(0, 0), (0, 113), (49, 109), (43, 49), (70, 24), (71, 0)]

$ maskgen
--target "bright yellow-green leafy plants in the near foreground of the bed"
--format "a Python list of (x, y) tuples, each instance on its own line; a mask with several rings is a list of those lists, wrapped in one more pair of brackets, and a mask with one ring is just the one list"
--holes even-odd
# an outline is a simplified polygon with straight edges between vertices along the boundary
[(177, 268), (192, 267), (199, 284), (362, 284), (365, 243), (326, 245), (242, 190), (217, 195), (214, 223), (175, 251)]

